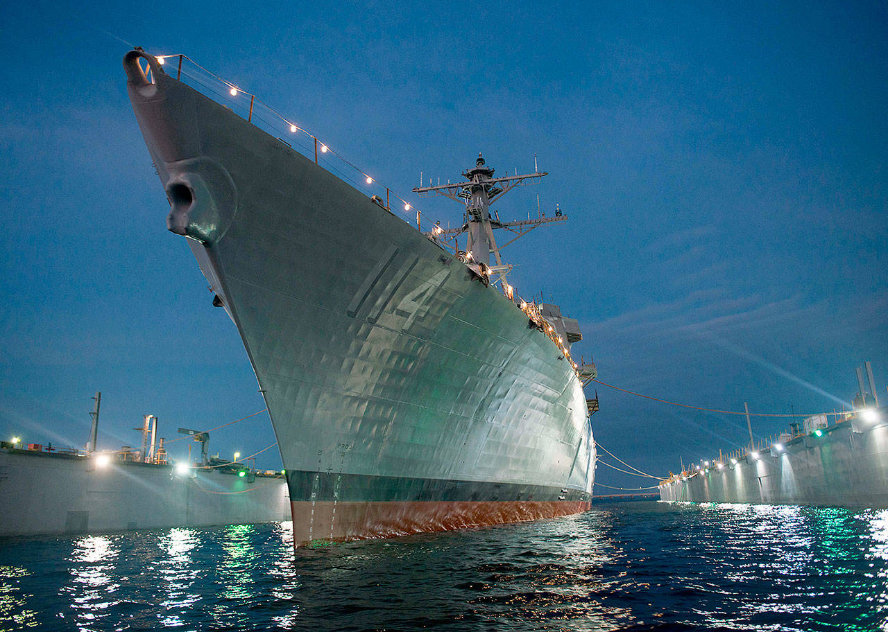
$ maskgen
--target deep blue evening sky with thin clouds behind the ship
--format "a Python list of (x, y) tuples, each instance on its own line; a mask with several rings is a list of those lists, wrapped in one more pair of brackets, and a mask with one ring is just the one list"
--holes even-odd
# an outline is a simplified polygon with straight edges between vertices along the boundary
[[(888, 399), (884, 3), (220, 6), (0, 16), (0, 436), (83, 445), (94, 391), (102, 447), (136, 443), (148, 413), (172, 438), (264, 406), (234, 326), (165, 229), (128, 43), (257, 93), (432, 218), (459, 209), (409, 194), (420, 170), (457, 178), (482, 151), (529, 171), (537, 154), (551, 175), (499, 211), (535, 212), (538, 193), (569, 219), (506, 251), (511, 280), (580, 320), (575, 352), (605, 382), (813, 413), (849, 401), (870, 359)], [(747, 440), (741, 417), (599, 397), (596, 437), (654, 474)], [(210, 451), (273, 441), (259, 415)]]

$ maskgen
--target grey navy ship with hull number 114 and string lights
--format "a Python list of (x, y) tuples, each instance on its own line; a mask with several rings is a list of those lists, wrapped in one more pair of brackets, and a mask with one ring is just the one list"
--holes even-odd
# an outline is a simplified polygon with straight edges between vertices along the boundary
[(167, 227), (266, 399), (296, 546), (589, 509), (594, 364), (570, 356), (576, 320), (515, 296), (494, 238), (566, 218), (491, 209), (546, 174), (496, 178), (479, 156), (456, 184), (415, 190), (464, 204), (463, 225), (423, 233), (253, 124), (252, 98), (238, 115), (140, 49), (123, 67)]

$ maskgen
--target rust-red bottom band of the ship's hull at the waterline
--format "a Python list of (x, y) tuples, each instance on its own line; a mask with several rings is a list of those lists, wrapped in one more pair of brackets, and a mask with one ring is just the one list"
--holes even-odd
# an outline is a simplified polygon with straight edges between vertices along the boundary
[(590, 506), (588, 501), (290, 502), (297, 547), (539, 520)]

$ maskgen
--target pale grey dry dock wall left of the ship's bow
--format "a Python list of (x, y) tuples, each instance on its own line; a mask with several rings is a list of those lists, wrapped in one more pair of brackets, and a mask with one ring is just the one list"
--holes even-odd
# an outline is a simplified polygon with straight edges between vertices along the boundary
[(283, 478), (0, 449), (0, 535), (102, 533), (289, 520)]

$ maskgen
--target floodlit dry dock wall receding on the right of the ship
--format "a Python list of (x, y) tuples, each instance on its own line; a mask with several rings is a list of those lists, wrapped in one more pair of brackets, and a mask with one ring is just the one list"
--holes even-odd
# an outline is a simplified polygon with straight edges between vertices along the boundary
[(660, 486), (663, 501), (888, 507), (888, 426), (848, 421)]

